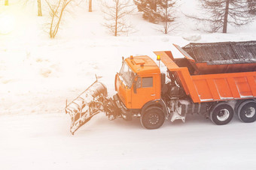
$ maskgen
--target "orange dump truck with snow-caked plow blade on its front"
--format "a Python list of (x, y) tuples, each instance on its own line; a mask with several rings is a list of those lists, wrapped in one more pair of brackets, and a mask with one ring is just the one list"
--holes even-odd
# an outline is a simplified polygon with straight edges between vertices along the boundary
[(165, 120), (184, 122), (195, 113), (218, 125), (229, 123), (234, 113), (246, 123), (256, 120), (256, 41), (175, 47), (184, 58), (154, 52), (166, 73), (146, 55), (131, 56), (115, 76), (114, 97), (107, 97), (105, 85), (96, 81), (69, 103), (72, 134), (99, 112), (110, 120), (140, 118), (147, 129)]

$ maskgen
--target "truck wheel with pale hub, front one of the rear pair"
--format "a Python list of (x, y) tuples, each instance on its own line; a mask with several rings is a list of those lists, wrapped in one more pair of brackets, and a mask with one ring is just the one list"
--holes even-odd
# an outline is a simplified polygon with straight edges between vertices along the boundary
[(217, 125), (228, 124), (233, 118), (233, 108), (227, 103), (218, 103), (210, 112), (210, 118)]

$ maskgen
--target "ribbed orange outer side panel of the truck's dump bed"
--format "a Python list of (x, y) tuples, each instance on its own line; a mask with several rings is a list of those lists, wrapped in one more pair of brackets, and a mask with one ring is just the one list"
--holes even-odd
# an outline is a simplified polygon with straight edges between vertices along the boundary
[(191, 76), (200, 102), (256, 97), (256, 72)]

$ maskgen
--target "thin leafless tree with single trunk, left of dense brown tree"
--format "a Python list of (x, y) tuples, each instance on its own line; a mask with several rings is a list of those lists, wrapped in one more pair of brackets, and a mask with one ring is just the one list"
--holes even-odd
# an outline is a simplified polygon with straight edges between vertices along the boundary
[(132, 27), (126, 22), (125, 17), (128, 14), (133, 13), (134, 6), (130, 0), (111, 0), (102, 1), (102, 12), (104, 13), (105, 27), (114, 34), (114, 36), (120, 33), (127, 32)]

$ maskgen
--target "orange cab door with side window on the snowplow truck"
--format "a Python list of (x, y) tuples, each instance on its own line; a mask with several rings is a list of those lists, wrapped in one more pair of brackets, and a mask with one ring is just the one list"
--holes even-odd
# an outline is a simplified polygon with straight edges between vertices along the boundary
[[(148, 101), (157, 99), (156, 95), (156, 78), (151, 76), (137, 76), (136, 90), (132, 91), (132, 107), (133, 109), (142, 109)], [(135, 87), (133, 87), (135, 88)]]

